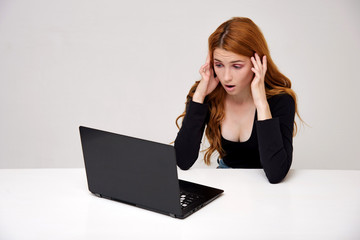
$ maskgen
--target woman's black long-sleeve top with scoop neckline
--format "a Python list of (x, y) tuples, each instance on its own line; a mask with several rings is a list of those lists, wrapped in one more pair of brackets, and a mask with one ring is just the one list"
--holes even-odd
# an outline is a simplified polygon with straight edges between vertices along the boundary
[[(263, 168), (270, 183), (281, 182), (292, 162), (292, 136), (295, 102), (290, 95), (268, 99), (271, 119), (258, 121), (257, 114), (250, 138), (232, 142), (221, 138), (223, 161), (232, 168)], [(175, 139), (177, 165), (189, 169), (199, 155), (201, 139), (209, 120), (209, 105), (190, 101), (182, 127)]]

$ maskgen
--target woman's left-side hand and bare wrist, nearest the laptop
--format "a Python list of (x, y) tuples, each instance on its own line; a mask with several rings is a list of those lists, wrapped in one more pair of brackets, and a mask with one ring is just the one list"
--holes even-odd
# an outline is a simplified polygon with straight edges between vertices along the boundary
[(201, 80), (194, 93), (193, 101), (203, 103), (205, 97), (214, 91), (219, 84), (219, 79), (214, 77), (214, 70), (210, 66), (210, 54), (208, 54), (205, 64), (201, 66), (199, 73)]

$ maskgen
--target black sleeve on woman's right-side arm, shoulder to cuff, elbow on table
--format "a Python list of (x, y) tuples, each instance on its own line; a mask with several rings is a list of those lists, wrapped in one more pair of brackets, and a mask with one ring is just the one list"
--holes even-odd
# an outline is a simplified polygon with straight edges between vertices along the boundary
[(295, 102), (290, 95), (269, 100), (272, 118), (257, 121), (260, 161), (270, 183), (279, 183), (292, 163)]

